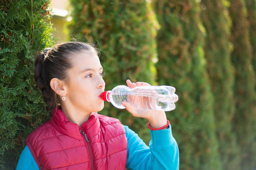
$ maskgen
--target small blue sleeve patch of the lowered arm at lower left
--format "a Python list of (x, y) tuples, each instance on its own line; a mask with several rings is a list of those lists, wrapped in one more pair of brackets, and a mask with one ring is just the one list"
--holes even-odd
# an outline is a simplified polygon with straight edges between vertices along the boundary
[(26, 146), (22, 151), (22, 154), (20, 154), (19, 162), (16, 167), (16, 170), (23, 170), (23, 169), (39, 170), (38, 164), (36, 164), (36, 161), (32, 156), (28, 146)]

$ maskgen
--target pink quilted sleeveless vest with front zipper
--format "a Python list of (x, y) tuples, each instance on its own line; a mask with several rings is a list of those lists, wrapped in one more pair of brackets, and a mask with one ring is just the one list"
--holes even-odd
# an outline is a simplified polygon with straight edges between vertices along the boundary
[(26, 145), (40, 169), (125, 169), (127, 160), (125, 128), (97, 112), (79, 128), (59, 107)]

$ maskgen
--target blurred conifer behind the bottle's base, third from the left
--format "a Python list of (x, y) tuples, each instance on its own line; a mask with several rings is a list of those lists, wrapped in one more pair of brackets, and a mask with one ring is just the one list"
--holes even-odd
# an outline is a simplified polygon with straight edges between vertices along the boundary
[(158, 81), (176, 87), (177, 107), (167, 113), (179, 143), (180, 169), (221, 169), (206, 69), (199, 2), (155, 1), (160, 24)]

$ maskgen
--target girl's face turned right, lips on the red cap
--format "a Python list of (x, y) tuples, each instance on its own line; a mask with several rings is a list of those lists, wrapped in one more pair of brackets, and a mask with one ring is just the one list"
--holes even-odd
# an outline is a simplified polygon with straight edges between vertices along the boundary
[(100, 59), (94, 52), (80, 52), (71, 57), (72, 68), (67, 71), (67, 107), (77, 112), (98, 112), (104, 108), (100, 98), (105, 89)]

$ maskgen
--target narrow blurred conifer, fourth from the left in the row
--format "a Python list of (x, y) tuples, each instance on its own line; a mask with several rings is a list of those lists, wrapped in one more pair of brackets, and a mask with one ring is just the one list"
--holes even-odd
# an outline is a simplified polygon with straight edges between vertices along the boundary
[(232, 130), (234, 117), (233, 65), (229, 50), (227, 9), (222, 1), (201, 0), (201, 19), (205, 28), (204, 52), (214, 94), (214, 116), (223, 169), (237, 169), (240, 155)]

